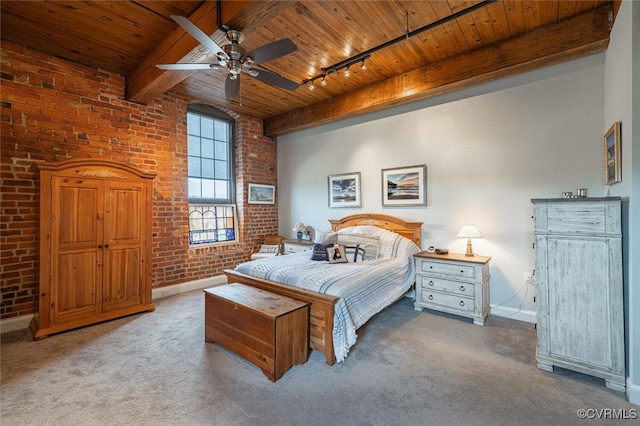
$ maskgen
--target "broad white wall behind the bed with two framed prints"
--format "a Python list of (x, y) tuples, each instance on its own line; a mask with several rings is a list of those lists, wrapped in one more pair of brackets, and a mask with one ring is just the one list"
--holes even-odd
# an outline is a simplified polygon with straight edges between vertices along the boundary
[[(603, 196), (604, 54), (484, 84), (365, 118), (278, 138), (282, 235), (304, 222), (375, 212), (420, 220), (423, 248), (464, 252), (475, 223), (477, 254), (491, 260), (495, 315), (535, 321), (531, 198), (587, 188)], [(427, 165), (427, 206), (382, 208), (381, 169)], [(361, 209), (330, 209), (327, 176), (361, 172)]]

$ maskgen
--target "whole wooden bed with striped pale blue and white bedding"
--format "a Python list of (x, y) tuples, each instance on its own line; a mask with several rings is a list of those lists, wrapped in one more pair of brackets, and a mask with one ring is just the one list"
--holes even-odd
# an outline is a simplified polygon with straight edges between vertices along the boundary
[(333, 365), (344, 360), (361, 325), (411, 290), (422, 222), (373, 213), (329, 222), (331, 232), (323, 237), (355, 249), (347, 252), (349, 262), (311, 260), (312, 250), (245, 262), (224, 273), (229, 283), (309, 303), (311, 347)]

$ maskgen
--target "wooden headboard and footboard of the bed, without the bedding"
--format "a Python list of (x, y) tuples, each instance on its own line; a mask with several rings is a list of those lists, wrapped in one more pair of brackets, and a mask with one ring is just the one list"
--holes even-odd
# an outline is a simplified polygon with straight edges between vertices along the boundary
[[(375, 213), (355, 214), (342, 219), (330, 219), (329, 222), (333, 231), (349, 226), (377, 226), (400, 234), (413, 241), (418, 247), (421, 247), (422, 222), (408, 222), (398, 217)], [(235, 270), (227, 269), (224, 274), (227, 276), (227, 283), (243, 283), (310, 303), (309, 334), (311, 347), (325, 355), (327, 364), (335, 364), (333, 317), (334, 306), (338, 297), (255, 278)]]

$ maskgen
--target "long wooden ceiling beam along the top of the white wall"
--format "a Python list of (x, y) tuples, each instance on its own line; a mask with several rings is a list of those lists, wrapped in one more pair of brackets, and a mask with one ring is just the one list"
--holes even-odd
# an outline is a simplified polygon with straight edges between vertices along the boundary
[(602, 52), (609, 43), (611, 11), (608, 3), (468, 54), (265, 119), (264, 132), (276, 137)]

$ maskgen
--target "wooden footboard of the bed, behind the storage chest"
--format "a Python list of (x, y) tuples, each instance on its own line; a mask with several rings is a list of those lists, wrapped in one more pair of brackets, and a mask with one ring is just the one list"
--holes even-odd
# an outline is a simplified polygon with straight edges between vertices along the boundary
[(227, 276), (227, 283), (242, 283), (310, 303), (309, 340), (311, 347), (325, 355), (328, 365), (336, 363), (336, 354), (333, 349), (333, 317), (335, 304), (338, 301), (337, 296), (255, 278), (231, 269), (225, 269), (224, 274)]

